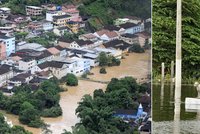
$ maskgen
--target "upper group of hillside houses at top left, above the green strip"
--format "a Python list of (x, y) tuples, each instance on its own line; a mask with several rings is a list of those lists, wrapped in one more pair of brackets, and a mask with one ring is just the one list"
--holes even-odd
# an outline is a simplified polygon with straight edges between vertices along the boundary
[[(79, 15), (75, 5), (56, 6), (46, 4), (41, 7), (26, 6), (26, 15), (12, 14), (7, 7), (0, 8), (0, 32), (12, 35), (14, 31), (30, 32), (37, 36), (45, 31), (53, 31), (60, 35), (60, 31), (77, 33), (85, 27), (85, 22)], [(32, 18), (44, 18), (34, 21)], [(24, 25), (23, 25), (24, 24)]]

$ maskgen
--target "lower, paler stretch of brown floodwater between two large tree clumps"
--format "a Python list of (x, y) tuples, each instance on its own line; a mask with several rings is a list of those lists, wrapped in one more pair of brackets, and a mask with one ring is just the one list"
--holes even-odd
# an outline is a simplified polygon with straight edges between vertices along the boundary
[(105, 89), (106, 84), (79, 81), (79, 86), (68, 87), (67, 92), (61, 93), (60, 105), (63, 110), (63, 116), (58, 118), (46, 118), (44, 121), (51, 125), (51, 130), (54, 134), (60, 134), (64, 129), (71, 131), (71, 126), (79, 122), (75, 115), (75, 109), (78, 107), (78, 102), (85, 94), (93, 94), (95, 89)]

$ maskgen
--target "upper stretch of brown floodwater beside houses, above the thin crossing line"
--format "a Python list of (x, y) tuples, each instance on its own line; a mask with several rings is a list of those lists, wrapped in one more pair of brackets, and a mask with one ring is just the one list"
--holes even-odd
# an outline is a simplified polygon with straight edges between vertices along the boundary
[(145, 78), (150, 73), (150, 52), (145, 54), (131, 53), (121, 60), (120, 66), (107, 67), (107, 74), (100, 74), (100, 67), (92, 69), (94, 75), (89, 76), (90, 79), (99, 81), (110, 81), (113, 77), (122, 78), (125, 76), (133, 76), (134, 78)]

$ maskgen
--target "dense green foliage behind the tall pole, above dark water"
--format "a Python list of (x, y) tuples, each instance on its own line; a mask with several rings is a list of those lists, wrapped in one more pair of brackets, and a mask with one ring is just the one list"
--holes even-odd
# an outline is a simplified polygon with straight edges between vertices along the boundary
[[(182, 1), (182, 73), (183, 79), (200, 76), (200, 3)], [(176, 0), (153, 0), (153, 72), (158, 75), (161, 62), (170, 73), (175, 60)]]

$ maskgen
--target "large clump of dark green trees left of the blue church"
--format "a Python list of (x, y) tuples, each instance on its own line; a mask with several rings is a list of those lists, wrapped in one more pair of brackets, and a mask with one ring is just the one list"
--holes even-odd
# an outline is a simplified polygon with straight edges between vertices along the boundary
[(137, 84), (132, 77), (113, 78), (105, 92), (95, 90), (93, 97), (85, 95), (79, 102), (76, 113), (80, 123), (73, 134), (132, 134), (131, 126), (113, 114), (116, 109), (137, 109), (139, 94), (146, 90), (146, 86)]

